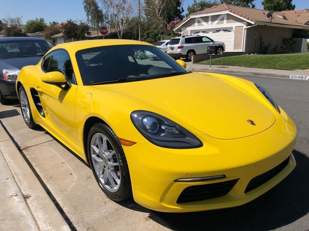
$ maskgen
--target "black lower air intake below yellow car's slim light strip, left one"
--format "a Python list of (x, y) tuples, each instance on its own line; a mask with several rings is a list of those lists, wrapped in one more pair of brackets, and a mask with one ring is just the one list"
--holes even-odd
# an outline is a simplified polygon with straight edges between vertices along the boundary
[(189, 186), (182, 191), (177, 199), (177, 203), (203, 201), (224, 196), (231, 191), (238, 180), (239, 179)]

